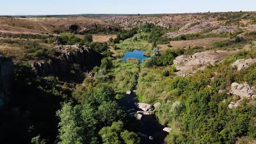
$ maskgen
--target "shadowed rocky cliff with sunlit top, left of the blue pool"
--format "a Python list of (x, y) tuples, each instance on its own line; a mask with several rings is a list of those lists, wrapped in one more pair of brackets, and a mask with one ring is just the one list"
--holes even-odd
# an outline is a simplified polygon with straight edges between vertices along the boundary
[(34, 62), (32, 66), (41, 76), (65, 75), (74, 67), (84, 71), (100, 63), (101, 58), (92, 49), (85, 46), (56, 46), (62, 54), (52, 62)]

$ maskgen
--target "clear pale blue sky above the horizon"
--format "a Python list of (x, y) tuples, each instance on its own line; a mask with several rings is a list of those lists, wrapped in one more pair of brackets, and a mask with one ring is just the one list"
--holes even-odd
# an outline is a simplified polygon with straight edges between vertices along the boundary
[(0, 15), (256, 11), (256, 0), (0, 0)]

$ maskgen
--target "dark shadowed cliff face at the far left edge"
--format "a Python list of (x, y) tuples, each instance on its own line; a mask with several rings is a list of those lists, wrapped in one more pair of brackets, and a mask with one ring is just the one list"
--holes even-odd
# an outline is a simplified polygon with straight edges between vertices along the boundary
[(0, 107), (10, 101), (10, 98), (13, 95), (13, 81), (13, 61), (0, 55)]

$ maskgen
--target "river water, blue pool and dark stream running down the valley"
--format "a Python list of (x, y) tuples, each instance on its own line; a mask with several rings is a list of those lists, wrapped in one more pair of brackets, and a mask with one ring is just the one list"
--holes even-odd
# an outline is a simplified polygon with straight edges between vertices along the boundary
[[(143, 52), (143, 51), (142, 51)], [(138, 55), (138, 52), (136, 51), (137, 55), (132, 56), (129, 55), (129, 58), (136, 58)], [(143, 54), (143, 53), (142, 53)], [(127, 55), (126, 55), (127, 56)], [(126, 57), (127, 59), (128, 57)], [(140, 59), (142, 61), (142, 59)], [(138, 77), (136, 77), (136, 86), (138, 85)], [(128, 115), (137, 112), (142, 111), (141, 109), (137, 108), (134, 105), (134, 102), (138, 102), (136, 100), (136, 86), (131, 89), (131, 95), (125, 95), (124, 98), (118, 101), (118, 105), (121, 106), (121, 108), (125, 111), (127, 111)], [(129, 124), (130, 129), (132, 129), (135, 132), (140, 132), (141, 134), (146, 134), (147, 138), (141, 137), (141, 144), (163, 144), (164, 138), (167, 136), (167, 132), (163, 131), (164, 126), (158, 123), (157, 119), (154, 117), (154, 115), (143, 115), (140, 121), (135, 121), (135, 118), (131, 118), (131, 120), (128, 120), (127, 123)], [(154, 140), (150, 140), (149, 137), (153, 137)]]

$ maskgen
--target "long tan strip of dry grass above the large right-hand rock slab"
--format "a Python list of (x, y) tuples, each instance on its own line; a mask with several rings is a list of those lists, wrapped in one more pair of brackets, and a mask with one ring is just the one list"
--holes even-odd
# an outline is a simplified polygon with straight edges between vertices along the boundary
[[(182, 48), (187, 49), (189, 46), (191, 46), (191, 48), (194, 46), (209, 47), (211, 45), (211, 43), (220, 42), (220, 41), (223, 41), (226, 39), (229, 39), (229, 38), (216, 37), (216, 38), (195, 39), (195, 40), (171, 41), (170, 44), (171, 44), (171, 46), (173, 46), (171, 49), (182, 49)], [(168, 44), (158, 45), (158, 47), (160, 47), (161, 50), (170, 49), (167, 45)]]

